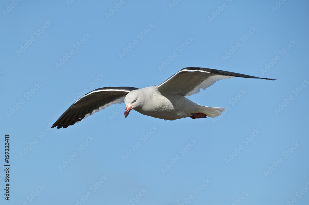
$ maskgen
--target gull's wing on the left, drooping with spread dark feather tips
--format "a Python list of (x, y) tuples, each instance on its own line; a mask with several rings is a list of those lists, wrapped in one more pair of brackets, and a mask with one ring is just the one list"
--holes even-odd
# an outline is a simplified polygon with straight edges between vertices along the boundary
[(59, 129), (74, 125), (82, 119), (117, 103), (123, 103), (128, 92), (136, 90), (133, 87), (105, 87), (88, 92), (59, 117), (53, 127)]

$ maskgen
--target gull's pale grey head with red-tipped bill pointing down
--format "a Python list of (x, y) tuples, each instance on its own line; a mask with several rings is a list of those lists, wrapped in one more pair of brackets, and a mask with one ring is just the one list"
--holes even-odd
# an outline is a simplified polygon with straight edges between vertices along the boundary
[(142, 107), (143, 95), (140, 90), (132, 90), (125, 96), (125, 118), (128, 117), (131, 109), (136, 110)]

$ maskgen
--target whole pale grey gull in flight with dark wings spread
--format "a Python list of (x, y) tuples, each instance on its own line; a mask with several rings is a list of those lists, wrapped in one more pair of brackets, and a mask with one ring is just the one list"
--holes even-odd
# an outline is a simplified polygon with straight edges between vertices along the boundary
[[(105, 87), (88, 92), (79, 98), (53, 124), (57, 129), (67, 128), (86, 117), (113, 104), (125, 103), (125, 118), (131, 110), (164, 120), (176, 120), (184, 117), (192, 119), (218, 117), (224, 108), (199, 105), (187, 97), (205, 90), (218, 80), (233, 77), (259, 78), (234, 72), (210, 68), (188, 67), (159, 85), (146, 88)], [(276, 80), (274, 78), (259, 78)]]

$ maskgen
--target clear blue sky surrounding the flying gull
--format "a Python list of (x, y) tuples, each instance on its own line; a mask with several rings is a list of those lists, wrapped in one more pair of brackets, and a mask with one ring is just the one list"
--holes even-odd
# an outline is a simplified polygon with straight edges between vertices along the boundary
[[(1, 1), (1, 204), (308, 204), (308, 5)], [(277, 80), (190, 97), (226, 107), (217, 118), (125, 118), (119, 104), (50, 129), (87, 92), (185, 67)]]

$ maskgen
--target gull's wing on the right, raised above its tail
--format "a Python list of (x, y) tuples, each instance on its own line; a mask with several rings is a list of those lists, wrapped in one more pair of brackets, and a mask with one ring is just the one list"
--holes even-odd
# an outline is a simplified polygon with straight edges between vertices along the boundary
[[(190, 96), (200, 92), (200, 89), (205, 90), (218, 80), (232, 77), (259, 78), (210, 68), (189, 67), (181, 69), (162, 84), (159, 84), (157, 88), (162, 94)], [(260, 79), (276, 80), (273, 78)]]

